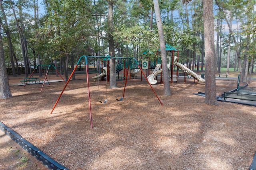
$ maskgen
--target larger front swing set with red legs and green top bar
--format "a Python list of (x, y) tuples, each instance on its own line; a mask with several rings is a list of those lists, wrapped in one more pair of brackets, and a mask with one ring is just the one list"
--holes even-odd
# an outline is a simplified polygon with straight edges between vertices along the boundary
[[(60, 97), (62, 96), (64, 90), (66, 89), (66, 86), (68, 86), (68, 83), (69, 83), (71, 77), (73, 76), (73, 74), (74, 74), (74, 72), (75, 72), (75, 70), (76, 70), (78, 64), (80, 64), (81, 59), (84, 58), (84, 60), (85, 60), (85, 68), (86, 68), (87, 90), (88, 90), (88, 103), (89, 103), (89, 112), (90, 112), (90, 128), (93, 128), (93, 127), (92, 127), (92, 108), (91, 108), (91, 100), (90, 100), (89, 76), (88, 76), (88, 58), (90, 58), (90, 57), (92, 57), (92, 58), (97, 58), (97, 59), (98, 59), (98, 58), (106, 58), (106, 57), (100, 57), (100, 56), (86, 56), (86, 55), (81, 56), (80, 59), (78, 60), (77, 64), (76, 64), (76, 66), (74, 67), (74, 70), (73, 70), (73, 72), (71, 73), (71, 75), (70, 75), (68, 81), (66, 82), (66, 85), (64, 86), (62, 92), (60, 93), (60, 96), (58, 97), (56, 103), (54, 104), (54, 107), (52, 108), (52, 111), (51, 111), (50, 114), (52, 114), (52, 112), (54, 111), (54, 108), (55, 108), (56, 105), (58, 104), (58, 101), (60, 100)], [(129, 70), (129, 66), (130, 66), (130, 61), (131, 61), (131, 60), (134, 60), (134, 62), (138, 65), (138, 68), (140, 68), (140, 71), (141, 71), (142, 74), (144, 75), (144, 77), (145, 77), (145, 79), (147, 80), (148, 84), (150, 85), (152, 91), (154, 92), (154, 94), (155, 94), (156, 97), (158, 98), (158, 96), (157, 96), (155, 90), (153, 89), (153, 87), (152, 87), (151, 84), (149, 83), (148, 78), (145, 76), (144, 72), (142, 71), (142, 68), (140, 67), (140, 64), (138, 64), (138, 61), (136, 61), (136, 59), (134, 59), (134, 58), (129, 58), (129, 57), (108, 57), (108, 58), (110, 58), (110, 59), (128, 59), (128, 60), (129, 60), (128, 70)], [(128, 76), (128, 72), (126, 72), (126, 77), (127, 77), (127, 76)], [(122, 96), (119, 100), (118, 100), (118, 99), (116, 99), (116, 100), (118, 100), (118, 101), (122, 101), (122, 100), (123, 100), (123, 98), (124, 98), (124, 92), (125, 92), (125, 88), (126, 88), (126, 83), (127, 83), (127, 78), (125, 79), (123, 96)], [(159, 98), (158, 98), (158, 101), (160, 102), (161, 105), (163, 105), (162, 102), (161, 102), (161, 100), (160, 100)], [(104, 102), (101, 102), (101, 103), (104, 103)], [(106, 103), (106, 102), (105, 102), (105, 103)]]

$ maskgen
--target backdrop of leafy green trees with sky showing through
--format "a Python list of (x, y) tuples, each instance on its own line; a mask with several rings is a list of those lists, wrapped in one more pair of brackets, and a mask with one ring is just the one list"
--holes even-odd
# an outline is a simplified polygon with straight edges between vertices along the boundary
[[(153, 1), (111, 2), (110, 29), (109, 4), (104, 0), (1, 1), (1, 17), (7, 19), (2, 20), (6, 66), (25, 66), (27, 75), (31, 65), (58, 63), (65, 72), (81, 55), (106, 56), (112, 38), (115, 56), (154, 58), (160, 43)], [(228, 65), (240, 70), (244, 81), (249, 65), (254, 68), (255, 4), (255, 0), (216, 0), (213, 4), (214, 23), (218, 23), (214, 27), (216, 71)], [(159, 1), (164, 40), (179, 50), (181, 63), (198, 72), (204, 71), (202, 5), (201, 0)], [(142, 55), (144, 51), (150, 53)], [(199, 61), (201, 70), (196, 68)]]

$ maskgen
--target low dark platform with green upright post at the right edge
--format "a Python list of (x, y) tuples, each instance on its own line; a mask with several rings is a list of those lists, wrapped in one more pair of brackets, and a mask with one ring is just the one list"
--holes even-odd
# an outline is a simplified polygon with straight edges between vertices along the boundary
[[(240, 75), (238, 75), (237, 88), (222, 94), (224, 101), (228, 99), (256, 101), (256, 87), (248, 87), (248, 83), (240, 86)], [(233, 100), (234, 101), (234, 100)]]

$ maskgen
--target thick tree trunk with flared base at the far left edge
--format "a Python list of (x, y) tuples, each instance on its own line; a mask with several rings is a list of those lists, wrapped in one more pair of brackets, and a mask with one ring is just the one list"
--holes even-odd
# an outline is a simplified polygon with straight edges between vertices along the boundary
[[(2, 20), (0, 18), (0, 24), (1, 23), (2, 23)], [(2, 25), (0, 25), (0, 98), (8, 99), (8, 98), (12, 98), (12, 94), (10, 91), (8, 73), (7, 73), (6, 65), (4, 61), (4, 46), (2, 41), (1, 26)]]

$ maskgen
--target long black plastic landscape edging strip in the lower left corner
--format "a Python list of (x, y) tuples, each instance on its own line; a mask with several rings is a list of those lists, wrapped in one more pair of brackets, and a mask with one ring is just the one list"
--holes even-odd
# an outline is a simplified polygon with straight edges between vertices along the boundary
[(37, 147), (32, 145), (26, 139), (18, 135), (14, 130), (10, 129), (4, 123), (0, 121), (0, 129), (8, 135), (14, 142), (18, 143), (24, 150), (34, 156), (37, 160), (40, 160), (44, 166), (50, 170), (68, 170), (68, 168), (56, 162), (50, 156), (39, 150)]

